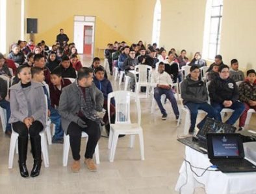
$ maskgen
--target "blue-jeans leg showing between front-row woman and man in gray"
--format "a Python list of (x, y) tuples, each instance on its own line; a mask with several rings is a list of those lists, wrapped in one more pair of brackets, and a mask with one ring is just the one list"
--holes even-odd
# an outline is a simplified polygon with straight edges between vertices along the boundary
[(61, 117), (56, 109), (51, 108), (50, 119), (53, 124), (55, 124), (55, 135), (53, 135), (53, 140), (60, 140), (63, 138), (64, 132), (61, 126)]

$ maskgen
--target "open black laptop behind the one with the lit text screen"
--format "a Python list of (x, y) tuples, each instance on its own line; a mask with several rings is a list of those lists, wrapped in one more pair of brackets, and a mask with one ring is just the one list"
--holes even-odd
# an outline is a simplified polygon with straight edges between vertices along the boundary
[(200, 153), (207, 154), (207, 133), (235, 133), (235, 130), (236, 127), (233, 127), (232, 125), (224, 124), (207, 117), (205, 125), (198, 131), (196, 136), (178, 138), (177, 140)]

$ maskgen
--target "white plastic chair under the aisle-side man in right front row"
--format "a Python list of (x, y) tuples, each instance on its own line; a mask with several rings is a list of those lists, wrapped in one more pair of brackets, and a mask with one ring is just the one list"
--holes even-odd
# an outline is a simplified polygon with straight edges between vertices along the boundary
[[(182, 83), (183, 81), (181, 81)], [(179, 88), (181, 89), (181, 83), (179, 83)], [(180, 90), (181, 92), (181, 90)], [(181, 124), (181, 116), (182, 114), (185, 113), (185, 124), (184, 124), (184, 130), (183, 133), (185, 135), (188, 134), (189, 128), (190, 128), (190, 124), (191, 124), (191, 118), (190, 118), (190, 111), (188, 109), (188, 107), (186, 107), (186, 105), (183, 105), (183, 99), (181, 98), (181, 114), (179, 114), (179, 119), (177, 121), (177, 127)], [(203, 110), (198, 110), (198, 114), (205, 114), (205, 111)], [(198, 118), (198, 117), (197, 117)]]

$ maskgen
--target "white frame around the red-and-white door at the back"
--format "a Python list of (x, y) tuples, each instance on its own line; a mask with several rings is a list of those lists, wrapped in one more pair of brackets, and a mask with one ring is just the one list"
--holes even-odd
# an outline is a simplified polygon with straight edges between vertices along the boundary
[[(94, 58), (94, 50), (95, 50), (95, 32), (96, 32), (96, 16), (74, 16), (74, 23), (73, 23), (73, 40), (75, 43), (75, 24), (80, 23), (83, 25), (83, 35), (84, 35), (84, 26), (92, 26), (92, 58)], [(82, 30), (82, 29), (81, 29)], [(84, 36), (83, 36), (83, 47), (84, 47)], [(83, 54), (83, 53), (79, 53)]]

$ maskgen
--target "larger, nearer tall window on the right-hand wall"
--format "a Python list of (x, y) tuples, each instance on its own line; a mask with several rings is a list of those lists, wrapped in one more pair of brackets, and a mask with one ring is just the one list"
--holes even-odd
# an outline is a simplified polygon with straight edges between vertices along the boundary
[(223, 0), (208, 0), (206, 6), (203, 58), (214, 59), (220, 52)]

